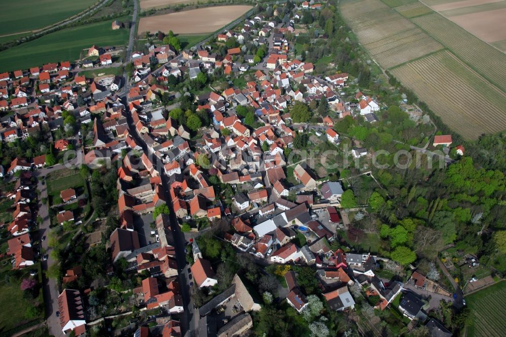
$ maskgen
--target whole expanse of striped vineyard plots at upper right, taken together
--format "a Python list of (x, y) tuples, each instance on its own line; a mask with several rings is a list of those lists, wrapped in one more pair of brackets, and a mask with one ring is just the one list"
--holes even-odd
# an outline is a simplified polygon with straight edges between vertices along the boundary
[[(340, 5), (370, 57), (464, 138), (505, 130), (506, 67), (497, 65), (506, 64), (506, 55), (418, 2), (382, 1), (344, 0)], [(480, 1), (488, 0), (459, 3)], [(506, 37), (498, 43), (506, 47)]]

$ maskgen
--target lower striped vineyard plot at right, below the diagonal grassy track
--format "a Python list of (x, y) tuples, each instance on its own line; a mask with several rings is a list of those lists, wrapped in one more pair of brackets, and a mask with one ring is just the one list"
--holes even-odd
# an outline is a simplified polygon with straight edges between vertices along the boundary
[(391, 72), (466, 139), (506, 129), (502, 112), (506, 95), (449, 51), (406, 63)]

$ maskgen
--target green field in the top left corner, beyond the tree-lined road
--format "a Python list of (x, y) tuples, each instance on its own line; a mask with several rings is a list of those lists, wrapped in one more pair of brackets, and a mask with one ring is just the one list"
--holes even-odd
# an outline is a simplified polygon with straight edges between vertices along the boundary
[(23, 0), (2, 2), (0, 35), (44, 28), (82, 12), (97, 0)]

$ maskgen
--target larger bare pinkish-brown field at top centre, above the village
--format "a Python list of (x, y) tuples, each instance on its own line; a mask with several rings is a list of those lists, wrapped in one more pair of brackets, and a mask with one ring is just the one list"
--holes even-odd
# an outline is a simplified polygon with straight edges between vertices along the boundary
[(137, 31), (139, 35), (159, 30), (172, 30), (176, 34), (210, 33), (237, 19), (251, 8), (243, 5), (218, 6), (143, 17), (139, 21)]

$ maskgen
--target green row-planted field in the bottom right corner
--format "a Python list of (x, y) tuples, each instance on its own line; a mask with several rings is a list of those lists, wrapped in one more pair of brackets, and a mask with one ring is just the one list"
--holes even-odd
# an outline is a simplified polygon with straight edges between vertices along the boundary
[(499, 282), (483, 290), (466, 296), (466, 304), (471, 310), (472, 323), (468, 327), (469, 337), (503, 336), (506, 331), (506, 282)]

